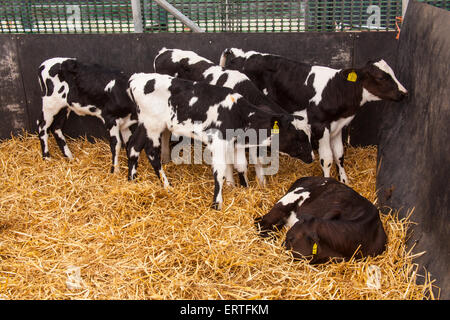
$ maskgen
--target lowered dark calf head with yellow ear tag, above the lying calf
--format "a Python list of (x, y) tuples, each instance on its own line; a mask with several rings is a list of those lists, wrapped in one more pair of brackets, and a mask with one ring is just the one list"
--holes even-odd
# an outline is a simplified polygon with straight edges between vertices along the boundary
[(280, 151), (305, 163), (311, 163), (313, 151), (308, 128), (301, 128), (299, 118), (290, 114), (272, 117), (272, 127), (275, 121), (279, 128), (279, 132), (275, 134), (278, 134)]

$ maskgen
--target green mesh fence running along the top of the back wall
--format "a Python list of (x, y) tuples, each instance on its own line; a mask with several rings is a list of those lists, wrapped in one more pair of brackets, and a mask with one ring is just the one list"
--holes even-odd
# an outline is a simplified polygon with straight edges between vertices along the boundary
[[(206, 32), (395, 30), (402, 1), (171, 0)], [(450, 10), (450, 0), (422, 1)], [(130, 0), (0, 1), (1, 33), (135, 32)], [(191, 32), (154, 1), (140, 0), (143, 32)]]

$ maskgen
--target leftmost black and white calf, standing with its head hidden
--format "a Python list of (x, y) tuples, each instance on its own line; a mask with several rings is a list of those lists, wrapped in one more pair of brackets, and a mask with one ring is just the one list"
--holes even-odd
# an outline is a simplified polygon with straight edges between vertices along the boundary
[(44, 159), (50, 157), (49, 132), (64, 156), (72, 159), (62, 127), (71, 111), (80, 116), (100, 118), (109, 133), (112, 152), (111, 172), (118, 168), (122, 141), (131, 136), (137, 122), (136, 107), (129, 98), (128, 77), (97, 64), (84, 64), (74, 58), (51, 58), (39, 67), (42, 89), (42, 115), (38, 120)]

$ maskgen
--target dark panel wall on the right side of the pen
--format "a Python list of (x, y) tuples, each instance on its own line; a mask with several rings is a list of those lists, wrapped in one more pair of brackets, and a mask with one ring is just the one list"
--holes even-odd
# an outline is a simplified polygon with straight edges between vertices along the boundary
[[(397, 65), (408, 100), (386, 106), (378, 148), (378, 200), (415, 208), (409, 245), (450, 298), (450, 12), (410, 1)], [(421, 270), (423, 271), (423, 269)]]

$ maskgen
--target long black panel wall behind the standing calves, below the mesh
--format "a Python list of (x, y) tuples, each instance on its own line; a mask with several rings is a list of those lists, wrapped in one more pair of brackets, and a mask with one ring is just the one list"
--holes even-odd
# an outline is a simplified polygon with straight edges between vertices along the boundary
[[(14, 77), (0, 79), (0, 138), (8, 138), (18, 128), (36, 130), (41, 110), (41, 94), (37, 69), (50, 57), (76, 57), (125, 72), (152, 72), (153, 58), (162, 47), (196, 51), (218, 63), (220, 53), (227, 47), (279, 54), (298, 61), (328, 65), (335, 68), (360, 66), (369, 59), (385, 57), (393, 62), (397, 41), (395, 34), (376, 33), (203, 33), (203, 34), (93, 34), (93, 35), (0, 35), (1, 57), (10, 68), (5, 72)], [(0, 58), (0, 61), (1, 58)], [(12, 61), (9, 63), (8, 61)], [(2, 70), (2, 72), (4, 72)], [(11, 107), (12, 106), (12, 107)], [(352, 143), (376, 144), (378, 124), (373, 113), (383, 107), (374, 103), (361, 110), (354, 121)], [(9, 108), (9, 109), (8, 109)], [(4, 111), (4, 109), (6, 111)], [(371, 109), (371, 110), (364, 110)], [(365, 115), (368, 112), (368, 115)], [(367, 120), (366, 118), (369, 117)], [(361, 122), (362, 125), (358, 125)], [(12, 126), (15, 124), (15, 126)], [(99, 120), (71, 114), (66, 122), (69, 136), (105, 136)]]

